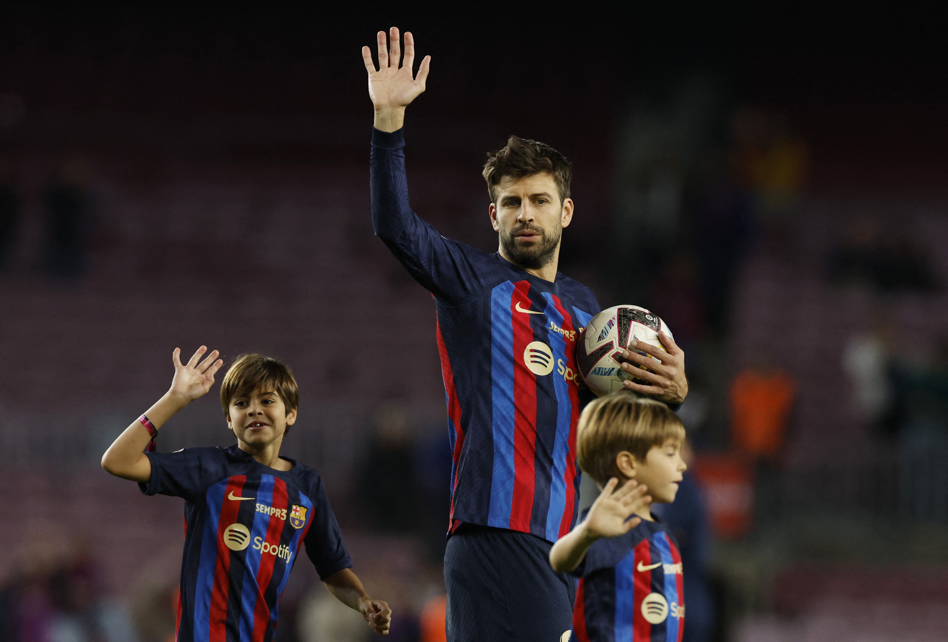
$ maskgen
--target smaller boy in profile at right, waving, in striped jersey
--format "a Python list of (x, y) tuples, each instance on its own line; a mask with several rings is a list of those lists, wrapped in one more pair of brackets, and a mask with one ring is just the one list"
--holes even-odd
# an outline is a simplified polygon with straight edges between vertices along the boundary
[(573, 639), (679, 642), (682, 558), (649, 508), (674, 501), (687, 468), (682, 421), (664, 403), (619, 393), (590, 403), (577, 431), (579, 466), (602, 493), (550, 550), (557, 573), (579, 578)]

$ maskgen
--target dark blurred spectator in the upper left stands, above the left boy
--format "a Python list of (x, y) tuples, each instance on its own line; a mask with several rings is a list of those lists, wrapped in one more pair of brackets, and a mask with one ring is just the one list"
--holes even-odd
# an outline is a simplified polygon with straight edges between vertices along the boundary
[(46, 188), (46, 269), (56, 276), (78, 276), (88, 263), (92, 229), (89, 167), (81, 158), (63, 163)]

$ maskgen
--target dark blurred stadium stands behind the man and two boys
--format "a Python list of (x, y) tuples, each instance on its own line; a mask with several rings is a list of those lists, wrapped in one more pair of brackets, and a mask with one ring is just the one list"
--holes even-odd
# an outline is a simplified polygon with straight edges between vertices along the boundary
[[(701, 639), (948, 639), (935, 23), (538, 10), (3, 10), (0, 639), (168, 639), (180, 501), (98, 460), (172, 349), (201, 343), (293, 366), (284, 452), (326, 480), (390, 639), (437, 639), (434, 315), (369, 216), (358, 49), (392, 24), (434, 57), (408, 119), (414, 210), (494, 247), (485, 152), (552, 144), (575, 172), (561, 270), (686, 350)], [(158, 441), (227, 443), (213, 394)], [(297, 565), (278, 640), (364, 633)]]

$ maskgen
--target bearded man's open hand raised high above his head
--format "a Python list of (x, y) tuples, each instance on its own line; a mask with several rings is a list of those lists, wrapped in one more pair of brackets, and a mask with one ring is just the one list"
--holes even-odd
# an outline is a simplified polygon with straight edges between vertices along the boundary
[(385, 31), (379, 31), (377, 34), (378, 69), (375, 69), (372, 49), (368, 46), (362, 47), (362, 60), (366, 71), (369, 72), (369, 97), (375, 106), (375, 128), (393, 132), (401, 129), (405, 119), (405, 107), (425, 91), (431, 57), (425, 56), (418, 65), (418, 75), (415, 77), (411, 70), (415, 56), (414, 38), (411, 32), (405, 33), (404, 60), (401, 60), (402, 49), (398, 28), (392, 27), (389, 36), (391, 48), (386, 46)]

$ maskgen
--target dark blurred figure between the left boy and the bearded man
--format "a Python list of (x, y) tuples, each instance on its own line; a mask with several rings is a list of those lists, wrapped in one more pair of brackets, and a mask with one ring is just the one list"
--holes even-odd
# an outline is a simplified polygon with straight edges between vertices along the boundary
[(408, 414), (401, 406), (375, 413), (374, 439), (359, 481), (359, 501), (381, 532), (404, 533), (418, 525), (414, 495), (414, 448)]

